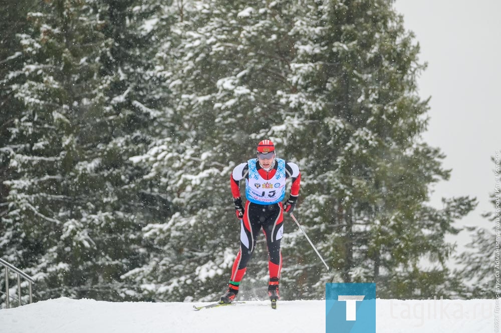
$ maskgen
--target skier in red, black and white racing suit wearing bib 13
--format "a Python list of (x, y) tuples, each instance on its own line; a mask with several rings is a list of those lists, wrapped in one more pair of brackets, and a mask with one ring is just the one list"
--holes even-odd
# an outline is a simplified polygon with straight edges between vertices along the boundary
[[(286, 179), (291, 178), (291, 194), (282, 204)], [(240, 198), (240, 180), (245, 179), (245, 207)], [(283, 212), (292, 213), (299, 196), (301, 174), (297, 164), (277, 158), (270, 140), (258, 144), (257, 158), (237, 165), (230, 176), (231, 194), (236, 217), (240, 220), (240, 250), (231, 270), (228, 290), (220, 303), (231, 303), (238, 294), (247, 262), (255, 248), (258, 232), (263, 228), (268, 246), (270, 282), (268, 295), (272, 306), (279, 299), (279, 280), (282, 269), (280, 240), (284, 233)], [(275, 305), (275, 306), (274, 306)]]

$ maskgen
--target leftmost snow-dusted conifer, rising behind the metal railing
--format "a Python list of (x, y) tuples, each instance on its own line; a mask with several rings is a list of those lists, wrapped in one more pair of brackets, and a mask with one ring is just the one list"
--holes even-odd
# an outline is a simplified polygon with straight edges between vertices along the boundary
[[(68, 79), (69, 72), (75, 75), (68, 66), (71, 53), (64, 52), (65, 28), (71, 26), (72, 16), (66, 16), (57, 5), (61, 2), (31, 7), (24, 17), (28, 27), (16, 31), (23, 51), (22, 66), (3, 77), (21, 107), (12, 115), (4, 147), (10, 153), (9, 167), (17, 176), (3, 182), (9, 191), (4, 227), (10, 232), (3, 235), (2, 255), (7, 254), (20, 267), (29, 267), (27, 272), (41, 281), (37, 290), (51, 286), (49, 271), (57, 276), (68, 269), (54, 259), (64, 224), (58, 215), (73, 201), (63, 175), (76, 155), (67, 116), (71, 105), (68, 91), (74, 87), (64, 89), (61, 82)], [(79, 76), (85, 75), (86, 67), (79, 67)], [(44, 296), (37, 293), (36, 297)]]

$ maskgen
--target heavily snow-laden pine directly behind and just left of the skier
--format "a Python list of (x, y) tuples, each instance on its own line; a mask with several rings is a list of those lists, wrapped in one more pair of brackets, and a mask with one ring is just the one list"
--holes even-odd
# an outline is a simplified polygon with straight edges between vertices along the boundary
[[(159, 179), (175, 214), (145, 228), (155, 248), (151, 262), (128, 274), (155, 285), (156, 299), (214, 299), (227, 285), (239, 235), (229, 173), (254, 157), (271, 127), (282, 124), (277, 91), (290, 86), (293, 45), (290, 21), (282, 16), (292, 10), (285, 2), (195, 1), (178, 14), (164, 52), (172, 72), (175, 137), (137, 158), (151, 165), (148, 177)], [(266, 246), (259, 249), (244, 292), (253, 280), (267, 285)]]

